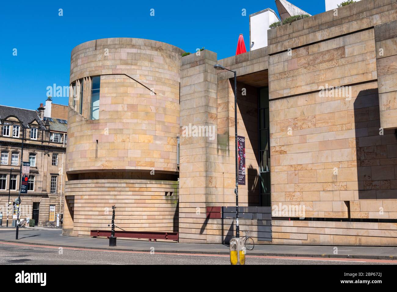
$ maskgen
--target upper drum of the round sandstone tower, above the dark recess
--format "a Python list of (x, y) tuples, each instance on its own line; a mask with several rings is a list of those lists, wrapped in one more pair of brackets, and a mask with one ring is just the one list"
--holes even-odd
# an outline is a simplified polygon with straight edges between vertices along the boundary
[[(169, 44), (124, 38), (89, 41), (73, 49), (70, 81), (85, 81), (82, 114), (69, 110), (68, 174), (177, 173), (181, 53)], [(101, 75), (99, 119), (89, 120), (89, 77), (95, 75)]]

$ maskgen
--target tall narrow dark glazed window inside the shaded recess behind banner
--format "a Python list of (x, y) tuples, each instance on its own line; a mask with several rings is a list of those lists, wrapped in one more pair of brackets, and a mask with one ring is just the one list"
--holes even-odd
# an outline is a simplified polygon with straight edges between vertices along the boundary
[(269, 207), (270, 200), (270, 147), (269, 147), (269, 88), (259, 91), (259, 174), (260, 205)]

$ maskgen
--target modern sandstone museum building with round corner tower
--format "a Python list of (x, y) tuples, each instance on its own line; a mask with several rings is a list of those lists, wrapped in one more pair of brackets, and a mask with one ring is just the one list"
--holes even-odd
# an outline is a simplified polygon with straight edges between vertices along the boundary
[(220, 64), (237, 72), (245, 137), (240, 229), (259, 244), (396, 246), (396, 44), (396, 0), (362, 0), (222, 60), (146, 39), (76, 46), (64, 234), (110, 230), (116, 205), (127, 231), (229, 240), (234, 80)]

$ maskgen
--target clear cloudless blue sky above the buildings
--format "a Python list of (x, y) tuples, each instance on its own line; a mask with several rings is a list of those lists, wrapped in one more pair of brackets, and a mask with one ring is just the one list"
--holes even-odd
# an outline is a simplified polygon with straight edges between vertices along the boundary
[[(312, 15), (325, 11), (324, 0), (290, 2)], [(59, 8), (63, 16), (58, 16)], [(241, 15), (243, 8), (247, 16)], [(0, 11), (0, 104), (37, 109), (46, 100), (47, 86), (69, 85), (72, 48), (93, 39), (137, 37), (189, 52), (204, 46), (217, 52), (218, 59), (233, 56), (240, 33), (249, 44), (249, 14), (265, 8), (277, 12), (274, 0), (4, 0)], [(13, 48), (17, 56), (13, 56)], [(53, 101), (67, 104), (67, 97), (54, 97)]]

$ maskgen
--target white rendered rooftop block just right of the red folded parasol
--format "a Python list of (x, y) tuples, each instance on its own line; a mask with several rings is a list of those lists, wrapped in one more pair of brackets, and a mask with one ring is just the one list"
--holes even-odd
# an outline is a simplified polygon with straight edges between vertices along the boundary
[[(256, 50), (268, 45), (269, 25), (279, 21), (271, 10), (250, 15), (250, 50)], [(252, 44), (254, 42), (254, 44)]]

